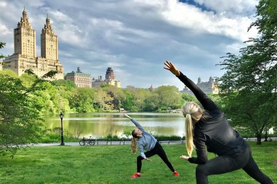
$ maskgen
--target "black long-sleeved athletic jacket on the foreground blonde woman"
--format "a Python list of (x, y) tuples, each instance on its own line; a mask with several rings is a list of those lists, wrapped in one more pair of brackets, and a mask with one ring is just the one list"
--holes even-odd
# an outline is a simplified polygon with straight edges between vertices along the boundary
[(193, 127), (193, 143), (197, 157), (190, 157), (188, 161), (195, 164), (205, 164), (208, 160), (206, 146), (208, 152), (213, 152), (217, 155), (235, 155), (236, 153), (244, 152), (246, 142), (230, 126), (224, 114), (214, 102), (184, 74), (181, 73), (177, 78), (193, 92), (210, 115), (210, 118), (206, 121), (200, 119)]

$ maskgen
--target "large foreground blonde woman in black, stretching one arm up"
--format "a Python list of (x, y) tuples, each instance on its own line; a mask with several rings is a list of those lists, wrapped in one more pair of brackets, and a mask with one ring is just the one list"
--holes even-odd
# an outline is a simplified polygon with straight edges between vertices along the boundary
[[(171, 62), (166, 61), (165, 65), (164, 68), (179, 78), (204, 107), (202, 109), (193, 102), (187, 102), (182, 107), (186, 127), (186, 148), (189, 156), (182, 155), (181, 158), (198, 164), (195, 172), (196, 182), (208, 183), (208, 175), (227, 173), (242, 168), (260, 183), (273, 183), (256, 165), (251, 148), (230, 126), (214, 102)], [(218, 156), (208, 160), (206, 146), (209, 152)], [(191, 157), (194, 148), (197, 157)]]

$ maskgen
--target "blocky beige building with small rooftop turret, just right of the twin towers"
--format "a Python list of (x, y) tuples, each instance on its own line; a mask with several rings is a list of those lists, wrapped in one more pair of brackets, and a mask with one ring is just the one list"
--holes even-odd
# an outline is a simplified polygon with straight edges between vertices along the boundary
[(73, 81), (77, 87), (91, 87), (91, 75), (82, 73), (80, 67), (76, 72), (67, 73), (65, 80)]

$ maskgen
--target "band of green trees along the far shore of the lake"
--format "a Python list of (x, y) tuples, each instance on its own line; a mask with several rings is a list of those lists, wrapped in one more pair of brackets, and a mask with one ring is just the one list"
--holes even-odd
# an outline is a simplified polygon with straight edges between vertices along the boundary
[[(18, 78), (11, 70), (0, 74)], [(26, 88), (32, 88), (37, 76), (23, 74), (19, 77)], [(36, 86), (31, 97), (36, 101), (41, 115), (60, 112), (116, 112), (127, 111), (167, 112), (167, 108), (181, 108), (187, 101), (199, 103), (194, 96), (179, 93), (175, 86), (160, 86), (155, 91), (146, 88), (117, 88), (106, 85), (101, 88), (77, 88), (73, 81), (55, 80)]]

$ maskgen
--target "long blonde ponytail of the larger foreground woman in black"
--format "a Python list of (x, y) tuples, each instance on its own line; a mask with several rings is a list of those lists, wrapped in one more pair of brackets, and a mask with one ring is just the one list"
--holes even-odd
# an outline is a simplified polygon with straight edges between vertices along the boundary
[(192, 120), (190, 114), (186, 114), (186, 147), (189, 157), (191, 157), (191, 153), (193, 149), (195, 148), (193, 144), (193, 131), (192, 131)]

